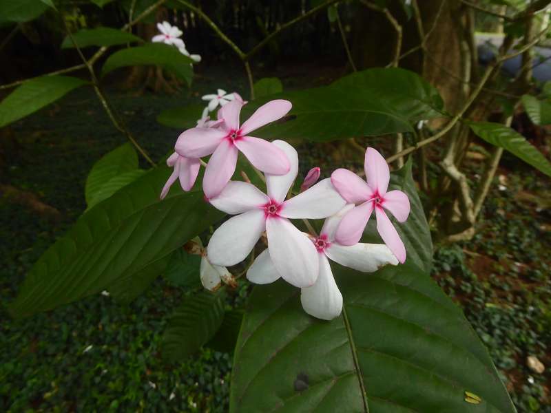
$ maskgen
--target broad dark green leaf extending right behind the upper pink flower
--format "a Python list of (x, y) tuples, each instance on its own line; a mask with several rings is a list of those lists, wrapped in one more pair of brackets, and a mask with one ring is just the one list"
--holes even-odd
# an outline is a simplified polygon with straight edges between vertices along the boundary
[(255, 131), (262, 138), (314, 141), (412, 132), (419, 120), (441, 116), (437, 90), (413, 72), (369, 69), (344, 76), (332, 85), (285, 92), (253, 100), (242, 119), (267, 100), (288, 99), (289, 116)]

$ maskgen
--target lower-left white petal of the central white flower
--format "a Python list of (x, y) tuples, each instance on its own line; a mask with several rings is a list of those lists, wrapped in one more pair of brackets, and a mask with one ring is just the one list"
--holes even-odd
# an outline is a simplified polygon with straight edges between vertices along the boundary
[(245, 260), (266, 229), (264, 211), (253, 209), (231, 217), (212, 234), (207, 255), (212, 264), (236, 265)]

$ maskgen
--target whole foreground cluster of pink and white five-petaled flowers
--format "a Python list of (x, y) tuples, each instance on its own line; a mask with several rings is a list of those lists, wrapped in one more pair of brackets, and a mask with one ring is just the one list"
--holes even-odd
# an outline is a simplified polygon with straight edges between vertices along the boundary
[[(218, 92), (217, 97), (227, 96)], [(268, 284), (282, 278), (301, 289), (306, 313), (320, 319), (338, 317), (342, 295), (329, 260), (363, 272), (403, 263), (404, 244), (385, 210), (404, 222), (410, 210), (408, 197), (402, 191), (387, 191), (390, 171), (373, 148), (366, 150), (367, 182), (346, 169), (337, 169), (331, 178), (318, 182), (320, 169), (313, 168), (300, 191), (293, 193), (297, 151), (283, 140), (268, 142), (251, 136), (256, 129), (285, 116), (291, 103), (271, 100), (240, 123), (246, 103), (236, 96), (226, 98), (225, 103), (220, 100), (211, 105), (213, 109), (220, 105), (216, 121), (204, 118), (178, 137), (176, 152), (167, 160), (174, 171), (161, 193), (164, 198), (178, 178), (189, 191), (198, 176), (200, 158), (211, 155), (202, 180), (205, 198), (233, 216), (214, 231), (206, 254), (202, 250), (203, 285), (214, 290), (220, 282), (227, 283), (231, 275), (226, 267), (245, 260), (262, 238), (267, 248), (248, 268), (247, 279)], [(251, 182), (231, 180), (239, 152), (264, 173), (266, 193)], [(373, 211), (386, 245), (359, 242)], [(291, 221), (319, 219), (325, 219), (319, 235), (313, 229), (304, 233)]]

